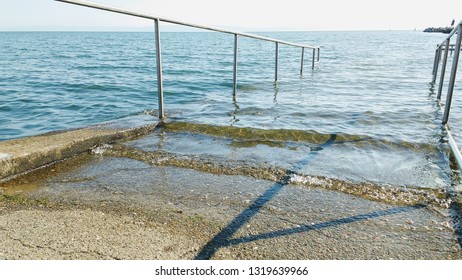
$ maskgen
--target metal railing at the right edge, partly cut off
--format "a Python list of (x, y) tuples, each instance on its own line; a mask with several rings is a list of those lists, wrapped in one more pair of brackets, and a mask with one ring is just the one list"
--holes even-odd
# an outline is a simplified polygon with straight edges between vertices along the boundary
[[(456, 43), (451, 44), (451, 38), (453, 36), (456, 36)], [(448, 121), (449, 121), (449, 113), (451, 110), (451, 103), (452, 103), (452, 97), (454, 93), (454, 85), (456, 82), (456, 75), (457, 75), (457, 68), (459, 64), (459, 56), (460, 56), (460, 49), (461, 49), (461, 41), (462, 41), (462, 21), (457, 24), (457, 26), (454, 27), (454, 30), (449, 33), (448, 37), (438, 45), (435, 51), (435, 61), (433, 63), (433, 83), (436, 82), (437, 77), (438, 77), (438, 68), (441, 59), (443, 60), (442, 66), (441, 66), (441, 73), (440, 73), (440, 79), (438, 83), (438, 95), (437, 95), (437, 101), (441, 101), (441, 94), (443, 92), (443, 87), (444, 87), (444, 81), (445, 81), (445, 73), (446, 73), (446, 66), (448, 62), (448, 54), (449, 52), (453, 52), (453, 58), (452, 58), (452, 67), (451, 67), (451, 73), (449, 77), (449, 83), (448, 83), (448, 91), (446, 94), (446, 103), (444, 104), (444, 115), (443, 115), (443, 125), (447, 131), (448, 135), (448, 141), (449, 141), (449, 146), (451, 147), (452, 153), (454, 154), (454, 158), (457, 161), (457, 164), (459, 165), (459, 169), (462, 171), (462, 154), (460, 152), (460, 149), (457, 146), (456, 141), (454, 140), (454, 137), (451, 134), (451, 130), (449, 129)]]

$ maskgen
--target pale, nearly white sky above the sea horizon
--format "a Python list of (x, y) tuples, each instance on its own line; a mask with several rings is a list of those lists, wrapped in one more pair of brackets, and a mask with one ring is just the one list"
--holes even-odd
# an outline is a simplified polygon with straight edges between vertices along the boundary
[[(94, 0), (242, 31), (423, 30), (462, 20), (462, 1)], [(441, 7), (441, 8), (440, 8)], [(439, 10), (438, 10), (439, 9)], [(0, 31), (147, 31), (152, 21), (53, 0), (0, 0)], [(162, 24), (165, 31), (182, 28)]]

